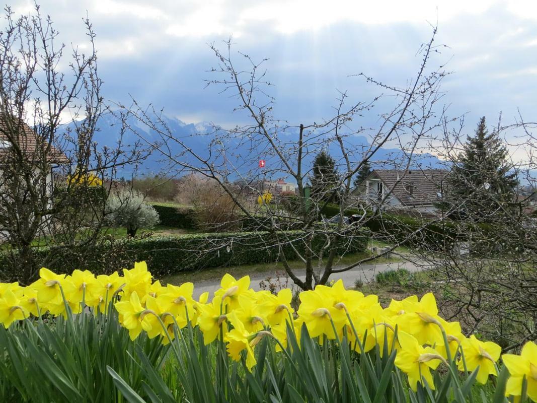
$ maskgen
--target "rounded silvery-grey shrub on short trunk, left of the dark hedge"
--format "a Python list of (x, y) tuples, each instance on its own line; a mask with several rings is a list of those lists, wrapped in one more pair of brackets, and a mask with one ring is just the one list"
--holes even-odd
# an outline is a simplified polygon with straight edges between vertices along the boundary
[(106, 219), (111, 225), (126, 227), (127, 235), (135, 236), (138, 228), (158, 224), (158, 213), (144, 202), (140, 192), (120, 191), (106, 201)]

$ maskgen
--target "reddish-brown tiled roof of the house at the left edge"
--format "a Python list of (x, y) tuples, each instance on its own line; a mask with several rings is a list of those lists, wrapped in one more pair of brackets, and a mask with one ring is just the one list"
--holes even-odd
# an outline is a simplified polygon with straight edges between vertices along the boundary
[[(46, 145), (47, 140), (40, 140), (39, 135), (30, 126), (23, 121), (17, 123), (16, 118), (12, 119), (13, 128), (8, 129), (8, 127), (6, 127), (5, 120), (2, 118), (2, 116), (0, 116), (0, 161), (2, 161), (3, 157), (9, 153), (8, 148), (10, 147), (10, 142), (6, 132), (8, 132), (8, 130), (15, 131), (17, 126), (21, 132), (18, 136), (18, 143), (21, 150), (23, 150), (23, 153), (26, 154), (28, 159), (37, 160), (40, 156), (38, 145)], [(50, 147), (47, 153), (47, 160), (50, 163), (58, 164), (68, 162), (67, 156), (53, 146)]]

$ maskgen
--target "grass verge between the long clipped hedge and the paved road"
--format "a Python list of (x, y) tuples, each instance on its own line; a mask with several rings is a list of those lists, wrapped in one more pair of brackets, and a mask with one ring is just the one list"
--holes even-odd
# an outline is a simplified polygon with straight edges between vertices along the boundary
[[(388, 245), (383, 242), (373, 241), (373, 246), (378, 248), (387, 247)], [(371, 243), (369, 243), (369, 247), (371, 247)], [(407, 248), (397, 248), (396, 251), (398, 253), (405, 253), (408, 251)], [(371, 250), (367, 249), (361, 253), (353, 253), (345, 255), (339, 260), (336, 260), (336, 265), (346, 265), (351, 264), (356, 261), (359, 261), (361, 259), (364, 259), (366, 257), (372, 256)], [(386, 257), (379, 257), (372, 261), (371, 263), (388, 263), (388, 262), (396, 262), (399, 261), (400, 258), (393, 256), (391, 258)], [(304, 263), (302, 263), (300, 260), (295, 261), (289, 261), (289, 266), (291, 266), (292, 269), (301, 269), (304, 267)], [(284, 271), (285, 268), (284, 265), (281, 262), (275, 262), (275, 263), (257, 263), (257, 264), (242, 264), (239, 266), (230, 266), (230, 267), (220, 267), (220, 268), (214, 268), (214, 269), (206, 269), (206, 270), (200, 270), (200, 271), (189, 271), (184, 273), (179, 273), (175, 275), (171, 275), (168, 277), (165, 277), (162, 279), (162, 283), (170, 283), (170, 284), (182, 284), (184, 282), (204, 282), (209, 280), (214, 280), (215, 278), (219, 279), (222, 278), (222, 276), (226, 273), (229, 273), (230, 275), (234, 276), (235, 278), (246, 276), (246, 275), (253, 275), (253, 274), (259, 274), (259, 273), (274, 273), (275, 271)]]

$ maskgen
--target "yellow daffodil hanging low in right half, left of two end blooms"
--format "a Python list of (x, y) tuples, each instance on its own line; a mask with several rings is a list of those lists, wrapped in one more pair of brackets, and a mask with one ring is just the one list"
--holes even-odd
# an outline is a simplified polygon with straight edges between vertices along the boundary
[(408, 375), (410, 388), (416, 392), (418, 383), (423, 385), (425, 381), (434, 390), (431, 369), (436, 370), (443, 358), (433, 348), (420, 346), (408, 333), (399, 332), (397, 338), (401, 349), (397, 350), (395, 365)]

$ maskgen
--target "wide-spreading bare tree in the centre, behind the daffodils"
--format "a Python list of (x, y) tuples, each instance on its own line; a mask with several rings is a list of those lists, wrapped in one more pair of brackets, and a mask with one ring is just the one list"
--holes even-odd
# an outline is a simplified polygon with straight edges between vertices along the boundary
[[(266, 60), (256, 62), (248, 55), (235, 53), (231, 40), (222, 50), (211, 45), (218, 64), (211, 70), (215, 77), (208, 80), (207, 85), (219, 87), (222, 93), (235, 98), (234, 112), (249, 119), (249, 124), (231, 129), (215, 125), (209, 133), (195, 134), (196, 140), (206, 141), (208, 145), (207, 150), (202, 150), (192, 145), (191, 138), (173, 133), (166, 125), (162, 111), (152, 106), (141, 107), (135, 101), (123, 110), (158, 134), (158, 141), (154, 141), (136, 127), (130, 127), (140, 139), (157, 150), (177, 174), (194, 172), (217, 183), (233, 200), (236, 210), (249, 222), (248, 228), (255, 230), (260, 241), (265, 239), (266, 233), (277, 235), (278, 241), (266, 247), (279, 248), (278, 259), (287, 274), (302, 289), (308, 290), (316, 284), (326, 284), (335, 272), (349, 270), (376, 257), (357, 260), (353, 264), (338, 264), (342, 250), (351, 250), (353, 242), (368, 236), (362, 228), (374, 216), (354, 197), (353, 176), (362, 165), (375, 160), (401, 169), (404, 177), (404, 172), (417, 164), (425, 140), (432, 138), (446, 120), (445, 110), (437, 105), (442, 98), (440, 83), (447, 73), (444, 66), (433, 69), (429, 66), (432, 55), (441, 49), (434, 45), (435, 34), (436, 27), (433, 27), (431, 39), (419, 49), (417, 73), (403, 87), (359, 74), (357, 77), (365, 78), (382, 93), (371, 100), (351, 103), (347, 92), (338, 92), (335, 113), (321, 123), (293, 124), (275, 118), (275, 100), (270, 95), (272, 84), (264, 70)], [(391, 105), (391, 109), (376, 112), (378, 103)], [(375, 112), (378, 125), (362, 127), (360, 120), (364, 114)], [(353, 141), (357, 135), (368, 136), (368, 144), (357, 145)], [(396, 145), (401, 152), (379, 159), (379, 150), (388, 145)], [(311, 163), (321, 150), (330, 147), (338, 154), (333, 155), (338, 183), (325, 188), (337, 192), (337, 197), (311, 195)], [(266, 167), (258, 168), (260, 159), (266, 160)], [(296, 186), (293, 214), (282, 208), (278, 198), (268, 204), (255, 203), (267, 191), (267, 183), (273, 183), (279, 177), (289, 177)], [(391, 189), (386, 189), (384, 200), (389, 198), (390, 192)], [(322, 220), (329, 205), (326, 200), (331, 199), (337, 200), (340, 213), (339, 220), (333, 223)], [(359, 214), (352, 225), (347, 225), (344, 216), (350, 210)], [(297, 231), (286, 231), (291, 228)], [(318, 246), (316, 242), (320, 237), (323, 241)], [(284, 244), (296, 242), (304, 244), (304, 253), (298, 250), (293, 254), (284, 253)], [(233, 236), (230, 235), (228, 246), (232, 244)], [(395, 249), (398, 244), (393, 243), (390, 249)], [(291, 270), (289, 260), (300, 260), (303, 270)]]

